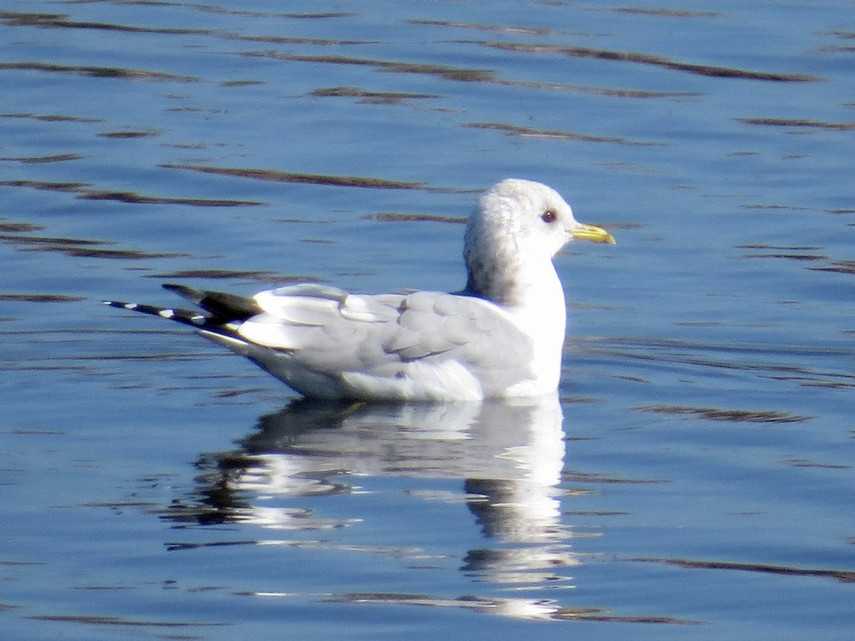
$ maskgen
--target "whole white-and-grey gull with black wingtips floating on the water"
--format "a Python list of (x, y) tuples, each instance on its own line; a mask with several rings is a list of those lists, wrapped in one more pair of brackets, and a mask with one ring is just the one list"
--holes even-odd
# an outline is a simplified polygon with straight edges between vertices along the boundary
[(164, 284), (199, 310), (103, 301), (195, 327), (305, 397), (475, 401), (557, 390), (567, 311), (553, 257), (614, 244), (550, 187), (504, 179), (469, 216), (462, 291), (351, 294), (288, 285), (254, 297)]

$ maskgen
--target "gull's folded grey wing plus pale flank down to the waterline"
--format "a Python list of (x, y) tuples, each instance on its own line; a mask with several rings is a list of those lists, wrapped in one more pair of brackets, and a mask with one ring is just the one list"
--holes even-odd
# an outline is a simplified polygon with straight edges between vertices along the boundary
[(273, 353), (238, 351), (310, 396), (320, 394), (301, 379), (315, 385), (320, 377), (340, 388), (334, 396), (447, 396), (457, 386), (460, 397), (482, 397), (532, 375), (531, 339), (481, 298), (292, 285), (262, 291), (254, 302), (261, 313), (237, 333)]

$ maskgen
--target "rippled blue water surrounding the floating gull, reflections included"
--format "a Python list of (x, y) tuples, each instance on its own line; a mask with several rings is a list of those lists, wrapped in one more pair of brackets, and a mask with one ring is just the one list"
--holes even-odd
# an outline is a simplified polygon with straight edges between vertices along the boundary
[[(847, 2), (0, 2), (3, 638), (855, 623)], [(462, 285), (562, 191), (560, 400), (292, 404), (97, 302)]]

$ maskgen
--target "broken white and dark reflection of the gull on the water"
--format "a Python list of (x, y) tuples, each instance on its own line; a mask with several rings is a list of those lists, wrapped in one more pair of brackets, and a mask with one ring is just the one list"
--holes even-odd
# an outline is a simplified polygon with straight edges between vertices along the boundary
[[(484, 540), (465, 555), (463, 573), (511, 588), (547, 582), (554, 587), (567, 579), (557, 568), (578, 562), (566, 543), (569, 532), (558, 499), (562, 422), (557, 395), (475, 403), (301, 399), (262, 416), (259, 429), (239, 441), (239, 450), (200, 456), (192, 502), (175, 503), (163, 517), (280, 531), (331, 529), (352, 521), (276, 506), (275, 499), (347, 493), (354, 490), (347, 481), (351, 476), (461, 479), (462, 500)], [(437, 497), (431, 491), (424, 495)], [(409, 543), (402, 541), (401, 547)], [(500, 601), (503, 607), (492, 599), (485, 609), (515, 616), (557, 611), (540, 600)]]

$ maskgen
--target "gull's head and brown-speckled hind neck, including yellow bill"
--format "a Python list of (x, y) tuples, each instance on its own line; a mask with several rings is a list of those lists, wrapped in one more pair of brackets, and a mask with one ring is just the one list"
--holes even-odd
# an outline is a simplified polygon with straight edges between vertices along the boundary
[(552, 256), (575, 238), (615, 242), (604, 229), (576, 221), (573, 209), (551, 187), (504, 179), (484, 193), (469, 216), (463, 249), (467, 291), (496, 302), (514, 301), (524, 286), (521, 275), (551, 271)]

